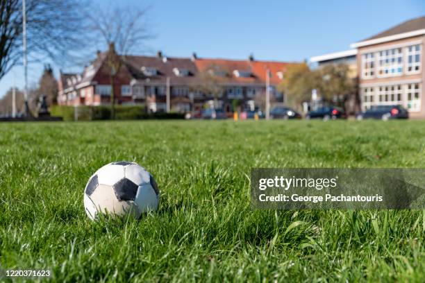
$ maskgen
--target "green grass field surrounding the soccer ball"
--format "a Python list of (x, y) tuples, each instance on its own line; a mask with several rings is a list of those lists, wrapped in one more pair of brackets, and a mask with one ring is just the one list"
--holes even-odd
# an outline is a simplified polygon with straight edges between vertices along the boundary
[[(54, 282), (424, 282), (425, 211), (251, 210), (249, 189), (251, 167), (424, 157), (424, 121), (2, 123), (0, 264)], [(92, 222), (85, 183), (117, 160), (153, 174), (160, 207)]]

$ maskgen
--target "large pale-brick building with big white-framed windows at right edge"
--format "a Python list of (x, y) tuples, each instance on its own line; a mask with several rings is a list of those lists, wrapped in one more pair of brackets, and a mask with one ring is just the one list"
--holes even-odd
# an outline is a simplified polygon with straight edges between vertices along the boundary
[(361, 109), (403, 105), (410, 117), (425, 118), (425, 17), (403, 22), (353, 49), (311, 58), (319, 67), (347, 63), (358, 79)]

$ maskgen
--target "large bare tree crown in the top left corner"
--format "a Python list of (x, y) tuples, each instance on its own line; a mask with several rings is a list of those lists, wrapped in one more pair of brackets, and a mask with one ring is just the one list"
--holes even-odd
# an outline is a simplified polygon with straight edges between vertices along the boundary
[[(83, 47), (84, 0), (26, 0), (28, 57), (64, 62)], [(22, 59), (22, 0), (0, 0), (0, 79)]]

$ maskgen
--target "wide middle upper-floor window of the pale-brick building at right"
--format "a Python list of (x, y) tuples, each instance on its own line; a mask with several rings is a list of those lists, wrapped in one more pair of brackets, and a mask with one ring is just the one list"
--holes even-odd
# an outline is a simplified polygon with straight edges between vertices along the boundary
[(394, 76), (403, 73), (403, 52), (401, 48), (378, 52), (378, 76)]

